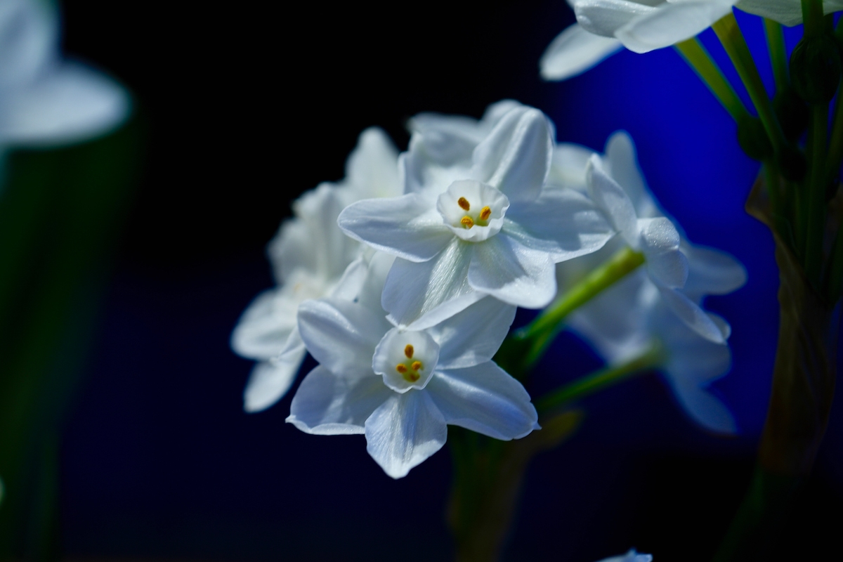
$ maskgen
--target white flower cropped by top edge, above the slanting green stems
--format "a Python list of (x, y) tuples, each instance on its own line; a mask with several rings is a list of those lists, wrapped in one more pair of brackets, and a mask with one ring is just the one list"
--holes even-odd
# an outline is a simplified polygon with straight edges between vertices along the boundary
[[(763, 0), (767, 2), (768, 0)], [(646, 53), (701, 33), (737, 0), (568, 0), (577, 23), (556, 36), (539, 66), (545, 80), (588, 70), (625, 46)]]

